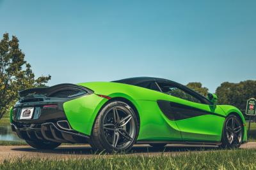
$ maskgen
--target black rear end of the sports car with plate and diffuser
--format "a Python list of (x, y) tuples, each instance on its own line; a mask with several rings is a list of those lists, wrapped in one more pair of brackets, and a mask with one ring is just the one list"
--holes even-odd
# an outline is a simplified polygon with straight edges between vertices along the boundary
[(74, 84), (23, 90), (11, 110), (12, 131), (28, 141), (86, 143), (89, 137), (72, 129), (63, 104), (90, 94), (92, 90)]

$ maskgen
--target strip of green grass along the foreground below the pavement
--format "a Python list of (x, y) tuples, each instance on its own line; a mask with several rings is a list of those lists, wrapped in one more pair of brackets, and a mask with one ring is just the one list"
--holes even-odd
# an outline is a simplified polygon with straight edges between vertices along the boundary
[(6, 159), (0, 169), (255, 169), (256, 150), (189, 152), (180, 155), (95, 155), (86, 159)]

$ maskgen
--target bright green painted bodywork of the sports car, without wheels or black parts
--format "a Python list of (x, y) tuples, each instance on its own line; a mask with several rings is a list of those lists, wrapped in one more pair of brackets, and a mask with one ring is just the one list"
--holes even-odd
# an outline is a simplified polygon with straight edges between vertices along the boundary
[[(245, 125), (243, 114), (234, 106), (193, 103), (163, 92), (124, 83), (88, 82), (78, 85), (91, 89), (94, 93), (67, 101), (63, 108), (72, 129), (88, 136), (92, 132), (97, 114), (108, 102), (108, 99), (98, 95), (124, 99), (134, 106), (140, 122), (138, 141), (221, 141), (225, 117), (229, 114), (238, 115)], [(159, 100), (179, 103), (209, 114), (170, 120), (159, 108)], [(246, 142), (246, 128), (243, 128), (243, 132), (243, 142)]]

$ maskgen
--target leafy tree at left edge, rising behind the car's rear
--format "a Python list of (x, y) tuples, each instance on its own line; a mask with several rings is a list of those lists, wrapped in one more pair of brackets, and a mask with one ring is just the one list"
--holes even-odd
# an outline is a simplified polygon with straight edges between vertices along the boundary
[(24, 57), (18, 38), (12, 36), (10, 40), (8, 33), (3, 34), (0, 41), (0, 118), (17, 101), (19, 90), (45, 86), (51, 80), (50, 75), (35, 79), (31, 65)]

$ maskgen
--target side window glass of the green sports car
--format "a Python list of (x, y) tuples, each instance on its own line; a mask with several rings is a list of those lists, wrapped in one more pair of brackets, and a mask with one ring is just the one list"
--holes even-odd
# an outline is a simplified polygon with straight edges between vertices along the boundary
[(157, 83), (162, 90), (162, 92), (169, 94), (174, 97), (179, 97), (180, 99), (184, 99), (187, 101), (192, 101), (195, 103), (202, 103), (199, 99), (192, 96), (191, 94), (188, 94), (182, 89), (179, 89), (179, 87), (175, 87), (175, 85), (171, 85), (170, 83)]

